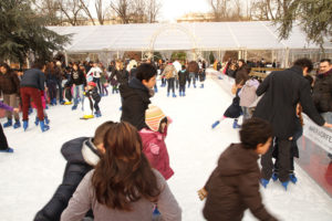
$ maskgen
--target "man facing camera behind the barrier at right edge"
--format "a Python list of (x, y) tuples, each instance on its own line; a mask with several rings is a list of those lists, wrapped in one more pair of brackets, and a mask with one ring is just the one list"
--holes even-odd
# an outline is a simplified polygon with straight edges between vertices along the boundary
[(323, 118), (332, 124), (332, 63), (329, 59), (320, 62), (320, 73), (315, 78), (312, 98)]

